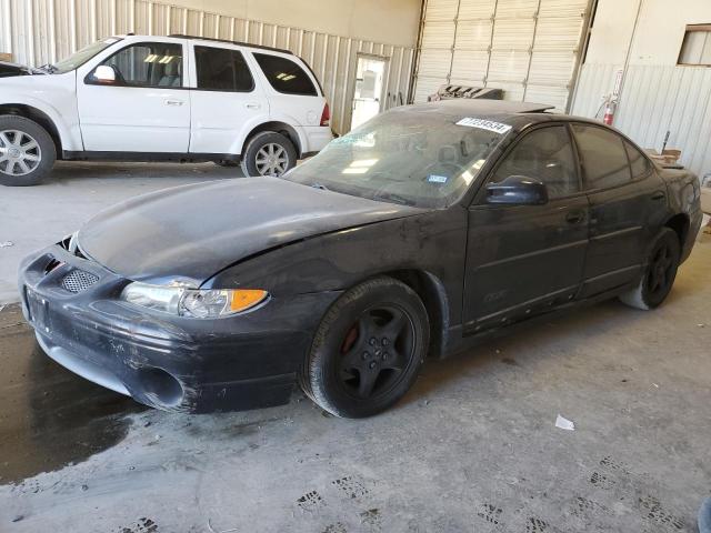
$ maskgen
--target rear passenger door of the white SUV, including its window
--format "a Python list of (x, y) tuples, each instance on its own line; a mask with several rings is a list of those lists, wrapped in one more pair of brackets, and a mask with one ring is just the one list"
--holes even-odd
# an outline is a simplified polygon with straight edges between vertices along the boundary
[(239, 48), (190, 49), (190, 152), (239, 154), (244, 135), (269, 120), (269, 101)]

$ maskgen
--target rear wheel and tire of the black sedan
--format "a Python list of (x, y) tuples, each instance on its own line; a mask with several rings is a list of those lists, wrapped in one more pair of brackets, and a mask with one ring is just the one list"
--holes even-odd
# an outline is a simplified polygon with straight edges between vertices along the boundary
[(654, 239), (642, 279), (634, 289), (620, 294), (620, 301), (643, 311), (659, 306), (674, 284), (680, 255), (679, 237), (673, 230), (663, 228)]

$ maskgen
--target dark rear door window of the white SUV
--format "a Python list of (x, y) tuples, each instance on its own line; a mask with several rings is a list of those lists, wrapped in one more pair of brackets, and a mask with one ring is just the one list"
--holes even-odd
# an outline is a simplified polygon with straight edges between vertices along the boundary
[(198, 89), (203, 91), (251, 92), (254, 79), (239, 50), (194, 47)]

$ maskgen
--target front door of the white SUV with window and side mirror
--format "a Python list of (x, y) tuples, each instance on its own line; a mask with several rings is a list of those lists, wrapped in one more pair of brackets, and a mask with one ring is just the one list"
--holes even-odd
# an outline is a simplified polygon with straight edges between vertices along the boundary
[(77, 80), (84, 150), (188, 152), (184, 48), (178, 42), (133, 43), (102, 61), (113, 69), (113, 82), (99, 81), (93, 70)]

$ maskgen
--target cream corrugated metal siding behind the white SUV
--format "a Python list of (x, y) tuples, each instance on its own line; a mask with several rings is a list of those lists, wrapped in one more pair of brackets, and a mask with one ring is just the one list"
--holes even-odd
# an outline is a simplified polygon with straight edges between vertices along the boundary
[[(457, 0), (449, 0), (457, 3)], [(452, 18), (453, 19), (453, 18)], [(286, 48), (317, 73), (331, 104), (331, 124), (350, 127), (357, 54), (388, 60), (382, 109), (407, 102), (413, 50), (301, 28), (244, 20), (148, 0), (0, 0), (0, 51), (17, 62), (54, 62), (113, 34), (187, 33)], [(449, 70), (449, 64), (448, 64)]]

